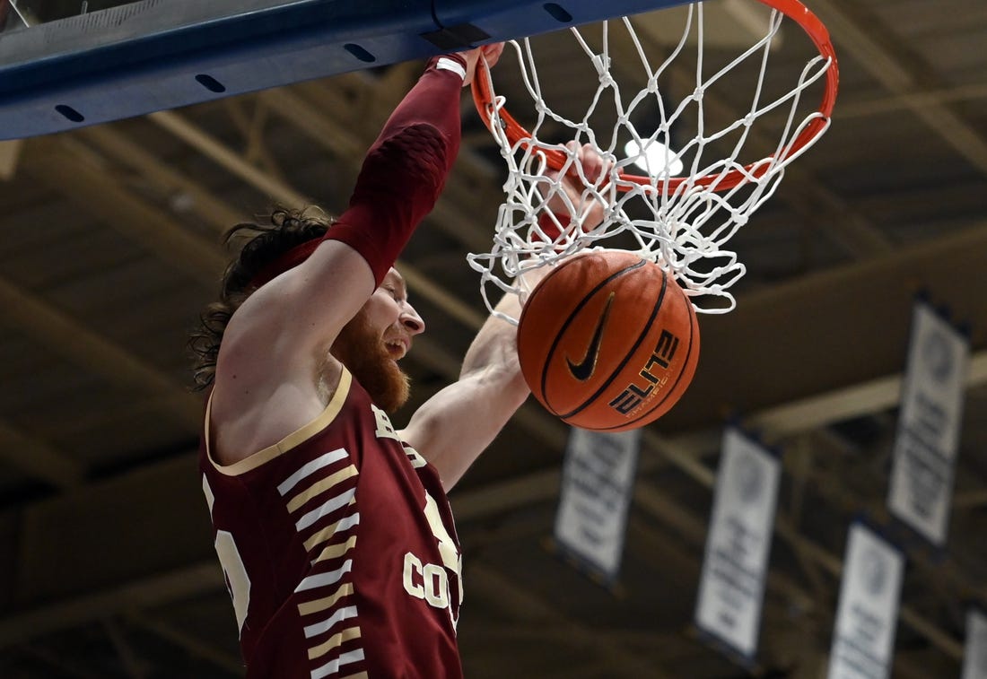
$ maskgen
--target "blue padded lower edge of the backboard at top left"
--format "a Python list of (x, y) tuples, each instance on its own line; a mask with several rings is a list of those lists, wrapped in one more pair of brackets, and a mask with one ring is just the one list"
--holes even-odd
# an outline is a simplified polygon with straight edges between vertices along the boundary
[(0, 34), (0, 139), (75, 129), (687, 0), (142, 0)]

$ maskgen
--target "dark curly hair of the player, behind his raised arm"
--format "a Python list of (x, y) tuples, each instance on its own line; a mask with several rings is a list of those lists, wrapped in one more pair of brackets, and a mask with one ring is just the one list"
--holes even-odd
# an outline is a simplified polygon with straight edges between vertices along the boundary
[(199, 325), (189, 338), (192, 377), (196, 390), (212, 384), (223, 334), (234, 312), (255, 287), (253, 281), (268, 264), (295, 246), (321, 238), (333, 219), (316, 206), (300, 210), (275, 207), (267, 224), (237, 224), (223, 236), (224, 245), (236, 252), (226, 266), (219, 299), (199, 315)]

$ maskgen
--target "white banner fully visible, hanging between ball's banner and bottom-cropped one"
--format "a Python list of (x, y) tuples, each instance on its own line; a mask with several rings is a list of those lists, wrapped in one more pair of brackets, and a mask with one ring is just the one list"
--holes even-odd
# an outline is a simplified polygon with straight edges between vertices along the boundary
[(757, 650), (781, 462), (736, 429), (723, 434), (696, 625), (744, 657)]

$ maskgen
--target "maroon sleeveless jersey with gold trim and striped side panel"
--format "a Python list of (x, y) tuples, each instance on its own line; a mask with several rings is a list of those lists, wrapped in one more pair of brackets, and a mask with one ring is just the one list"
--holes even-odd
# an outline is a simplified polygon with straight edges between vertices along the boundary
[(250, 679), (461, 677), (461, 557), (438, 474), (343, 369), (325, 412), (202, 490)]

